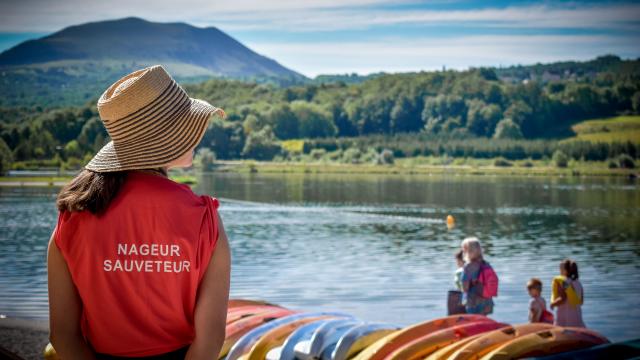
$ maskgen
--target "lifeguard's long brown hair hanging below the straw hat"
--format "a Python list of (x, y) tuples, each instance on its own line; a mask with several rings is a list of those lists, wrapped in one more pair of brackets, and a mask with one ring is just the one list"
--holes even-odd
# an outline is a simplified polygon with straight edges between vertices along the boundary
[[(148, 169), (167, 176), (164, 168)], [(80, 171), (58, 193), (56, 206), (59, 211), (89, 210), (94, 215), (102, 215), (109, 207), (129, 171), (95, 172), (87, 169)]]

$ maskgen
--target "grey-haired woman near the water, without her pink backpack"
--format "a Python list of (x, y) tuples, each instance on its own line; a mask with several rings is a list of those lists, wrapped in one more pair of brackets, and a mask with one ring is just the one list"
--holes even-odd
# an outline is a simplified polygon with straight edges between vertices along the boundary
[(468, 314), (488, 315), (493, 312), (493, 298), (482, 296), (483, 284), (479, 281), (482, 266), (488, 263), (482, 257), (480, 240), (475, 237), (462, 241), (464, 268), (462, 270), (462, 289), (466, 295), (465, 310)]

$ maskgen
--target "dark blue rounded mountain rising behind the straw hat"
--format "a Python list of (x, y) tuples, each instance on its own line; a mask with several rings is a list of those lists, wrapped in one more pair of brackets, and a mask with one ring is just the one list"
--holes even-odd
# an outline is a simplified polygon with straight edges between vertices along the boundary
[(73, 105), (152, 64), (162, 64), (185, 82), (210, 77), (306, 80), (215, 27), (129, 17), (70, 26), (0, 53), (0, 105), (25, 104), (21, 96), (31, 97), (33, 84), (45, 105)]

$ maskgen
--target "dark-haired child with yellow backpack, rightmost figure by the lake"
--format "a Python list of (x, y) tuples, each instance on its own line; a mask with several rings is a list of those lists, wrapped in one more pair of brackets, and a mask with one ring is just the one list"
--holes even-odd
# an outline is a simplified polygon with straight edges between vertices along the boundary
[(578, 264), (563, 260), (560, 275), (553, 278), (551, 289), (551, 309), (557, 308), (554, 325), (586, 327), (582, 321), (584, 291), (578, 278)]

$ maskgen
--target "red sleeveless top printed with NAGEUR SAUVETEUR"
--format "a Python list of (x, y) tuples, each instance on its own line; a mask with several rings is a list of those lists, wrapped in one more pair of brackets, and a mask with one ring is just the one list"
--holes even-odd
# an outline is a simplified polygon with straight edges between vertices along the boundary
[(60, 212), (54, 241), (99, 353), (148, 356), (190, 344), (200, 280), (218, 239), (218, 200), (129, 172), (106, 212)]

